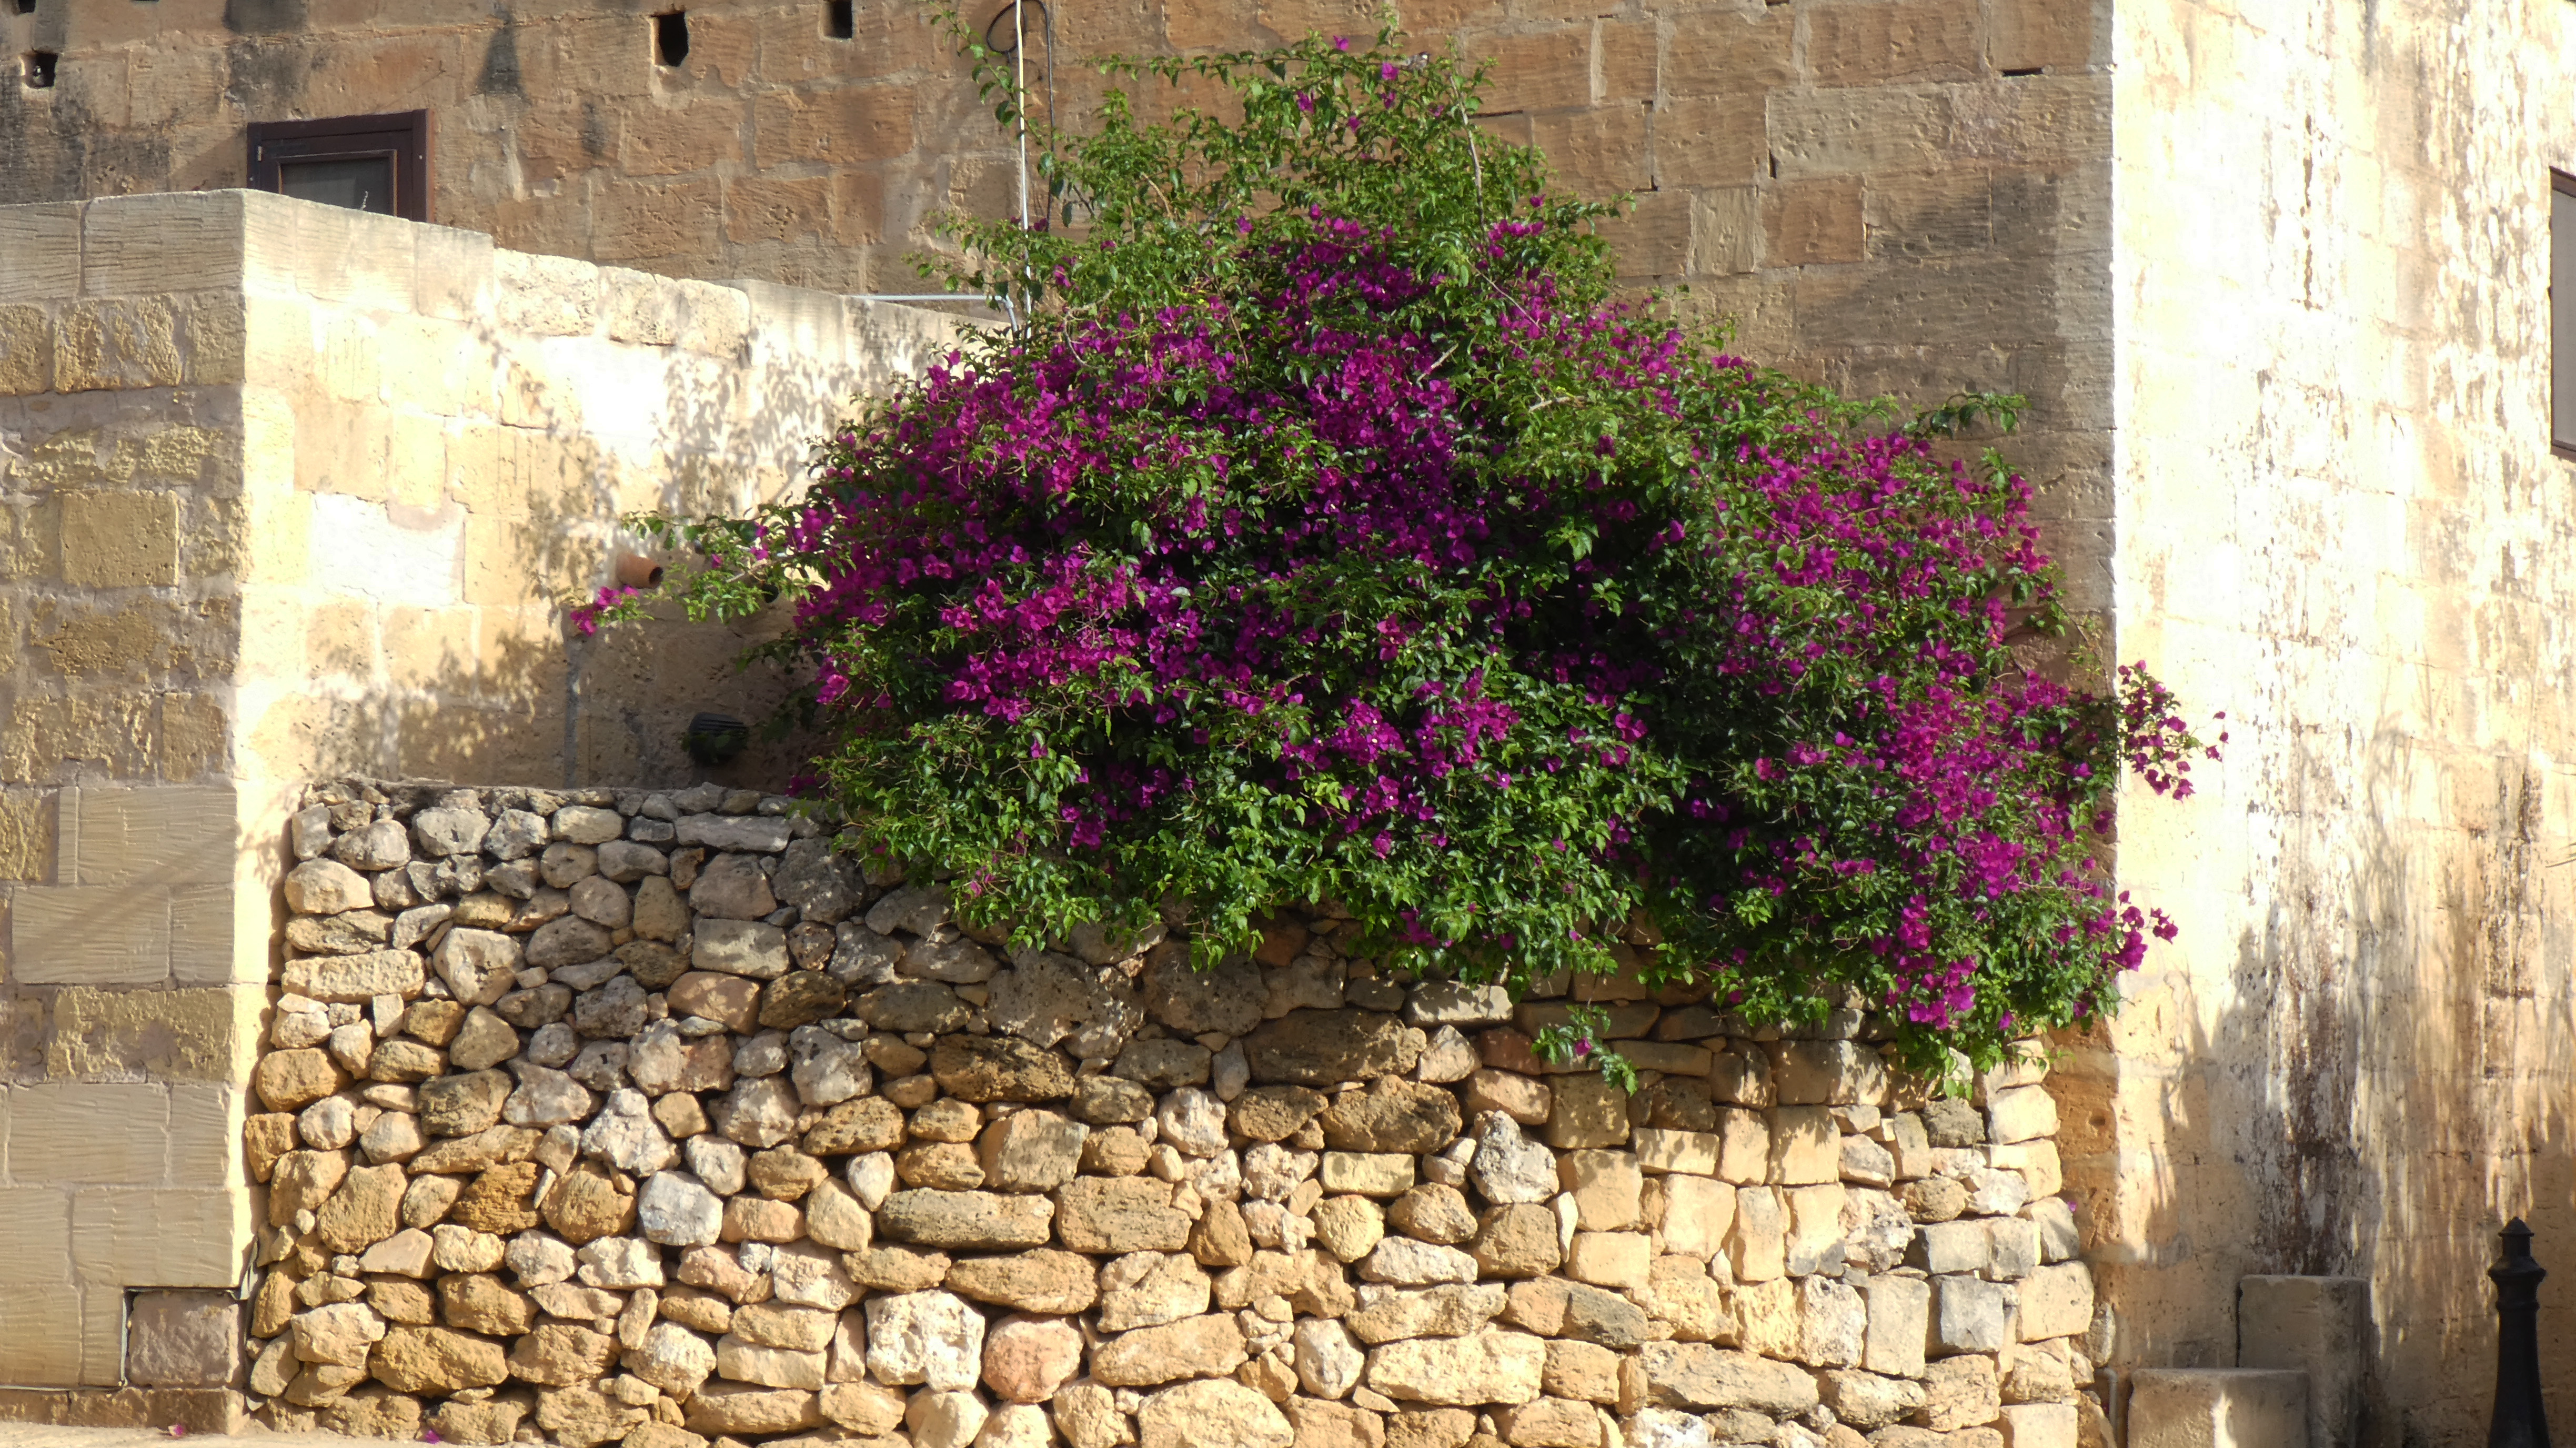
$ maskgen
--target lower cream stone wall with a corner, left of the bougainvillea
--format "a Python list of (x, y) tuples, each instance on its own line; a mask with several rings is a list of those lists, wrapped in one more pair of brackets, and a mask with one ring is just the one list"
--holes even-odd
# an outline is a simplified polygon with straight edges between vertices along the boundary
[(129, 1381), (134, 1288), (242, 1281), (304, 781), (680, 770), (742, 639), (559, 600), (951, 325), (242, 191), (0, 209), (0, 1384)]

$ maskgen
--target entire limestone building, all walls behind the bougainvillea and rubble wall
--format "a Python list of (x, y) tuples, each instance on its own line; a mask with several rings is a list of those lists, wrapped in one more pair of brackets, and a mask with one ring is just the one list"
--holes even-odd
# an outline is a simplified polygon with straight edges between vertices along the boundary
[[(549, 634), (546, 598), (600, 580), (616, 508), (724, 495), (680, 492), (716, 459), (760, 456), (770, 484), (786, 479), (796, 438), (858, 371), (829, 386), (791, 379), (806, 410), (750, 438), (711, 423), (750, 415), (729, 392), (752, 386), (744, 368), (809, 343), (835, 368), (858, 366), (840, 361), (866, 353), (858, 312), (819, 296), (914, 291), (899, 258), (927, 245), (935, 209), (1002, 211), (1012, 196), (1010, 149), (909, 3), (662, 5), (685, 10), (685, 57), (667, 57), (644, 5), (389, 10), (36, 0), (0, 13), (0, 52), (21, 67), (0, 85), (0, 204), (21, 204), (0, 209), (0, 490), (18, 559), (0, 845), (21, 881), (5, 1100), (21, 1134), (21, 1121), (54, 1121), (44, 1113), (70, 1082), (157, 1092), (165, 1105), (149, 1110), (173, 1121), (173, 1147), (118, 1167), (121, 1188), (250, 1190), (242, 1167), (209, 1167), (175, 1141), (214, 1141), (247, 1110), (240, 1082), (268, 1010), (286, 866), (273, 822), (304, 783), (343, 770), (683, 781), (667, 739), (688, 706), (654, 685), (654, 660), (706, 670), (724, 642), (613, 642), (634, 649), (626, 662), (585, 665)], [(1059, 103), (1082, 111), (1079, 62), (1103, 52), (1249, 46), (1360, 31), (1370, 15), (1334, 0), (1066, 3)], [(2548, 198), (2553, 167), (2576, 173), (2576, 8), (1425, 0), (1401, 18), (1425, 44), (1492, 57), (1489, 124), (1546, 144), (1569, 186), (1631, 191), (1625, 276), (1687, 283), (1680, 304), (1736, 317), (1749, 356), (1906, 402), (2027, 392), (2009, 451), (2045, 487), (2048, 544), (2102, 647), (2228, 709), (2231, 757), (2202, 770), (2200, 799), (2133, 812), (2120, 840), (2123, 884), (2174, 910), (2184, 938), (2151, 956), (2125, 1015), (2063, 1043), (2048, 1080), (2102, 1291), (2092, 1353), (2112, 1373), (2099, 1381), (2112, 1430), (2125, 1373), (2259, 1366), (2244, 1358), (2241, 1337), (2262, 1335), (2244, 1329), (2241, 1283), (2287, 1273), (2367, 1281), (2367, 1329), (2347, 1332), (2357, 1389), (2324, 1415), (2339, 1438), (2318, 1443), (2473, 1438), (2491, 1229), (2527, 1216), (2545, 1257), (2576, 1239), (2576, 899), (2558, 868), (2576, 855), (2576, 598), (2553, 567), (2576, 502), (2548, 428)], [(31, 85), (36, 57), (46, 85)], [(410, 108), (435, 119), (435, 219), (505, 252), (415, 229), (397, 245), (415, 258), (394, 289), (415, 299), (404, 307), (343, 276), (335, 258), (353, 242), (301, 206), (70, 206), (240, 186), (255, 121)], [(124, 216), (137, 222), (116, 232)], [(36, 245), (67, 227), (88, 237), (93, 222), (100, 250), (70, 271), (46, 260), (62, 242)], [(224, 299), (229, 283), (188, 281), (209, 232), (273, 240), (258, 255), (319, 278), (296, 283), (304, 330), (263, 332)], [(484, 312), (433, 296), (453, 268), (430, 247), (466, 247), (466, 276), (495, 258)], [(556, 278), (595, 312), (574, 301), (531, 332), (515, 289)], [(726, 278), (768, 289), (688, 286)], [(634, 327), (618, 296), (652, 286), (667, 322), (618, 335)], [(693, 330), (701, 309), (744, 304), (755, 322), (781, 319), (770, 353), (744, 343), (726, 361), (690, 340), (708, 335)], [(350, 309), (363, 317), (332, 330)], [(381, 363), (350, 340), (386, 338), (399, 327), (384, 319), (402, 314), (456, 322), (456, 345), (487, 348), (487, 325), (528, 335), (500, 348), (518, 371), (479, 350), (469, 397), (402, 399), (443, 374), (368, 374)], [(629, 384), (564, 410), (549, 379), (641, 356), (621, 348), (662, 348), (649, 397), (726, 399), (696, 415), (706, 446), (670, 446), (672, 423), (611, 438)], [(234, 381), (260, 358), (294, 384)], [(412, 430), (379, 438), (379, 412)], [(314, 461), (278, 461), (289, 417), (294, 456)], [(64, 420), (95, 438), (39, 459)], [(484, 430), (520, 459), (497, 492)], [(435, 479), (386, 482), (425, 435), (446, 459)], [(531, 435), (549, 438), (541, 456)], [(392, 459), (384, 477), (368, 456)], [(574, 502), (520, 502), (567, 472), (585, 479)], [(729, 474), (724, 487), (757, 484)], [(497, 538), (551, 557), (459, 575), (459, 590), (489, 598), (291, 582), (263, 616), (258, 567), (240, 585), (198, 582), (260, 557), (234, 533), (283, 538), (260, 531), (263, 487), (296, 500), (286, 513), (381, 508), (363, 518), (381, 533), (348, 538), (412, 559), (469, 559)], [(461, 510), (456, 541), (417, 544), (440, 536), (446, 523), (415, 523), (443, 508)], [(533, 508), (531, 523), (556, 531), (513, 518), (477, 533), (482, 508)], [(330, 562), (309, 531), (283, 549), (307, 569)], [(296, 629), (278, 629), (281, 613)], [(294, 652), (270, 652), (289, 634)], [(335, 683), (309, 691), (309, 675)], [(621, 703), (590, 709), (592, 688)], [(165, 783), (214, 794), (144, 806), (118, 794)], [(175, 822), (129, 830), (137, 809)], [(211, 850), (229, 843), (232, 863), (180, 850), (185, 830)], [(49, 902), (77, 904), (39, 891), (82, 889), (170, 902), (165, 935), (129, 920), (149, 938), (142, 956), (116, 951), (167, 951), (160, 974), (108, 987), (41, 979), (41, 964), (28, 974), (54, 951)], [(219, 920), (204, 899), (227, 902)], [(211, 935), (183, 946), (191, 930)], [(77, 956), (90, 935), (75, 925), (70, 940)], [(219, 1046), (175, 1051), (157, 1025), (113, 1025), (103, 1010), (129, 1005), (98, 992), (134, 989), (175, 1010), (191, 989), (232, 992), (185, 1005), (209, 1013)], [(211, 1095), (183, 1105), (198, 1085)], [(93, 1188), (36, 1190), (54, 1193), (28, 1198), (39, 1206), (62, 1201), (77, 1265)], [(252, 1198), (227, 1211), (247, 1221)], [(8, 1270), (33, 1257), (10, 1255)], [(93, 1278), (59, 1278), (72, 1296), (57, 1301), (90, 1301), (77, 1283)], [(185, 1286), (98, 1275), (98, 1311), (118, 1283)], [(0, 1311), (21, 1309), (8, 1299)], [(82, 1332), (77, 1381), (116, 1381), (116, 1335)]]

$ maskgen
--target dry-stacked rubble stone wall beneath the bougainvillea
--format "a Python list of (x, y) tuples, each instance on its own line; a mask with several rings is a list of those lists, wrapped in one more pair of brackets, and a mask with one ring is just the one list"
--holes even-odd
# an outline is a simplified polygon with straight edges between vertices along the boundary
[(255, 1087), (281, 1427), (696, 1448), (2071, 1445), (2035, 1072), (1378, 976), (1007, 951), (778, 799), (343, 783)]

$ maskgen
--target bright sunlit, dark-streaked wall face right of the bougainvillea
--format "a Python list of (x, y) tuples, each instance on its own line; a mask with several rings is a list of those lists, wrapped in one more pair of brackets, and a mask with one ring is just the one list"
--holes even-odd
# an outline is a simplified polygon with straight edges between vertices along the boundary
[(2231, 1366), (2244, 1273), (2367, 1275), (2378, 1443), (2481, 1433), (2499, 1221), (2576, 1242), (2571, 54), (2566, 5), (2117, 8), (2117, 652), (2233, 745), (2123, 822), (2184, 935), (2053, 1082), (2069, 1180), (2115, 1363)]

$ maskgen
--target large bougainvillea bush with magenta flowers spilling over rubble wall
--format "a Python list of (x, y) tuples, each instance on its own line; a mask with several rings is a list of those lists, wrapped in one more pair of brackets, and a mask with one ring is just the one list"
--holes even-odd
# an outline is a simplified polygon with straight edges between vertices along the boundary
[(2020, 479), (1615, 301), (1613, 211), (1396, 36), (1115, 75), (1213, 103), (1041, 129), (1054, 227), (961, 224), (1015, 325), (801, 497), (649, 520), (698, 613), (793, 603), (860, 845), (1028, 940), (1337, 899), (1515, 989), (1857, 989), (1927, 1064), (2112, 1002), (2166, 930), (2105, 891), (2112, 791), (2197, 742), (2143, 672), (2022, 670)]

